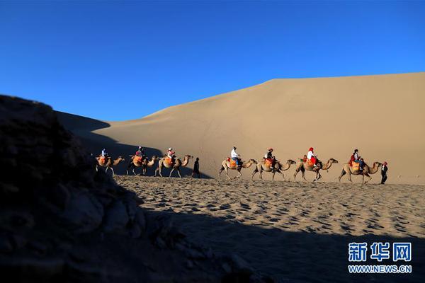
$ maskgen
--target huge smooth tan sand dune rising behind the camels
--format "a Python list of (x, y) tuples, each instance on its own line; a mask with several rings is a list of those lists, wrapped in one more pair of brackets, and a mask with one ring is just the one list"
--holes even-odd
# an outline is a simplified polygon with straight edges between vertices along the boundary
[[(96, 154), (102, 142), (115, 145), (113, 156), (132, 154), (132, 146), (139, 144), (151, 154), (164, 153), (171, 146), (178, 156), (198, 156), (201, 171), (213, 178), (232, 146), (237, 146), (244, 160), (261, 160), (266, 149), (273, 147), (283, 161), (301, 158), (313, 146), (322, 161), (339, 160), (322, 174), (322, 180), (335, 181), (353, 149), (359, 149), (367, 163), (388, 162), (388, 183), (424, 184), (424, 105), (425, 73), (412, 73), (273, 79), (139, 120), (100, 124), (90, 120), (92, 128), (83, 117), (79, 123), (77, 116), (62, 113), (61, 120), (89, 146), (96, 141), (96, 148), (91, 144)], [(244, 178), (250, 178), (253, 170), (243, 169)], [(293, 173), (290, 168), (285, 176), (293, 180)], [(306, 173), (309, 180), (313, 175)], [(270, 179), (268, 173), (264, 176)], [(372, 183), (378, 180), (379, 173)], [(355, 176), (353, 181), (361, 178)]]

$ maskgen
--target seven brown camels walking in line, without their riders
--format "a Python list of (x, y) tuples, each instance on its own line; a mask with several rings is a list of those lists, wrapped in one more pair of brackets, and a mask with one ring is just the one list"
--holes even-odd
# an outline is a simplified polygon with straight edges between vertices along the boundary
[[(129, 170), (132, 170), (132, 173), (135, 173), (135, 168), (142, 168), (142, 175), (146, 175), (147, 168), (153, 167), (155, 162), (158, 161), (158, 167), (155, 169), (155, 176), (158, 174), (163, 177), (162, 170), (164, 168), (171, 168), (169, 177), (171, 177), (171, 174), (174, 171), (177, 171), (179, 174), (179, 177), (181, 178), (180, 168), (188, 166), (189, 161), (193, 158), (191, 155), (186, 155), (183, 158), (183, 161), (181, 161), (181, 158), (174, 158), (174, 163), (166, 162), (166, 156), (164, 157), (158, 157), (158, 156), (152, 156), (152, 158), (149, 160), (149, 158), (142, 158), (140, 159), (138, 156), (132, 156), (130, 155), (130, 163), (128, 163), (127, 168), (127, 175), (129, 173)], [(113, 166), (117, 166), (119, 163), (125, 161), (125, 159), (122, 156), (118, 156), (118, 158), (106, 158), (104, 161), (101, 157), (96, 157), (97, 164), (96, 164), (96, 171), (98, 171), (98, 167), (106, 168), (106, 172), (108, 172), (108, 169), (111, 169), (112, 174), (115, 175), (113, 171)], [(286, 163), (280, 163), (280, 161), (276, 161), (273, 168), (269, 166), (269, 164), (266, 164), (266, 161), (263, 160), (261, 162), (257, 162), (254, 159), (249, 159), (249, 161), (240, 161), (242, 163), (241, 166), (234, 166), (234, 164), (231, 163), (231, 160), (229, 158), (225, 158), (225, 160), (222, 161), (221, 168), (218, 172), (218, 178), (220, 180), (222, 171), (225, 171), (226, 176), (228, 179), (230, 179), (230, 176), (227, 174), (228, 170), (236, 170), (238, 175), (236, 178), (240, 178), (242, 176), (242, 168), (249, 168), (253, 164), (255, 164), (254, 172), (251, 175), (251, 180), (254, 180), (254, 175), (256, 173), (259, 173), (260, 179), (263, 180), (263, 172), (269, 172), (272, 173), (272, 180), (274, 180), (275, 174), (279, 173), (282, 175), (283, 180), (285, 179), (285, 175), (283, 175), (283, 171), (287, 171), (291, 165), (295, 164), (295, 173), (294, 173), (294, 181), (297, 178), (298, 172), (301, 171), (301, 176), (304, 180), (305, 179), (305, 171), (312, 171), (316, 173), (316, 176), (313, 180), (313, 182), (317, 182), (320, 178), (322, 178), (322, 175), (320, 174), (321, 170), (329, 170), (331, 168), (332, 164), (338, 163), (338, 161), (334, 158), (329, 158), (327, 163), (322, 163), (322, 161), (317, 162), (316, 166), (310, 166), (307, 161), (300, 158), (298, 162), (295, 162), (291, 159), (288, 159)], [(348, 175), (348, 180), (350, 182), (353, 182), (351, 180), (351, 175), (362, 175), (363, 180), (362, 183), (368, 183), (368, 181), (372, 180), (372, 177), (370, 175), (375, 174), (379, 171), (380, 166), (382, 166), (382, 163), (375, 161), (373, 163), (373, 166), (370, 167), (368, 164), (364, 164), (363, 170), (361, 171), (353, 171), (353, 168), (349, 165), (349, 163), (345, 163), (341, 175), (339, 175), (339, 182), (341, 182), (341, 178), (344, 175)], [(369, 179), (365, 181), (365, 177), (368, 177)], [(307, 180), (306, 180), (307, 181)]]

